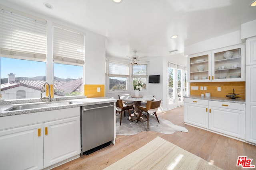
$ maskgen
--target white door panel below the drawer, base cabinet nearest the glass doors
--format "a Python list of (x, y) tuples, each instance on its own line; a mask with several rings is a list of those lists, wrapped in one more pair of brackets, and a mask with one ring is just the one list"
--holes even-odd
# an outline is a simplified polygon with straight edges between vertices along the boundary
[(208, 106), (184, 103), (184, 122), (208, 128)]

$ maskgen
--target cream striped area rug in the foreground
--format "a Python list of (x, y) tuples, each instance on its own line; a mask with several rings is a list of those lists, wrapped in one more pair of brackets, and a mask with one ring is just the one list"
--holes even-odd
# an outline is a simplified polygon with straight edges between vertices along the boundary
[(156, 137), (104, 170), (221, 170), (206, 160)]

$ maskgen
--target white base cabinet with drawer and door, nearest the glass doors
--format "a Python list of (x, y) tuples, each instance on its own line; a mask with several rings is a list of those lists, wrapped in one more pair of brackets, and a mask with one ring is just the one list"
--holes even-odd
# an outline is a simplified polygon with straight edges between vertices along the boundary
[(184, 98), (184, 122), (208, 128), (208, 100)]

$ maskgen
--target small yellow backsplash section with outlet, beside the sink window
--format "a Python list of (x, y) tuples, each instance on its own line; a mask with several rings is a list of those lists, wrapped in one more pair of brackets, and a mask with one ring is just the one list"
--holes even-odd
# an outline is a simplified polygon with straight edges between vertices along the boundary
[[(97, 92), (98, 87), (100, 88), (100, 92)], [(104, 84), (85, 84), (84, 96), (87, 96), (87, 98), (104, 97), (105, 85)]]

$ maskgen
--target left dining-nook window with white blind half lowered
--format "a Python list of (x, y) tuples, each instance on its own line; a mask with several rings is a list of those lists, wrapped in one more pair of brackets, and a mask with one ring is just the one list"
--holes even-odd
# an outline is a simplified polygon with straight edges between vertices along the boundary
[(127, 90), (128, 64), (108, 63), (109, 90)]

